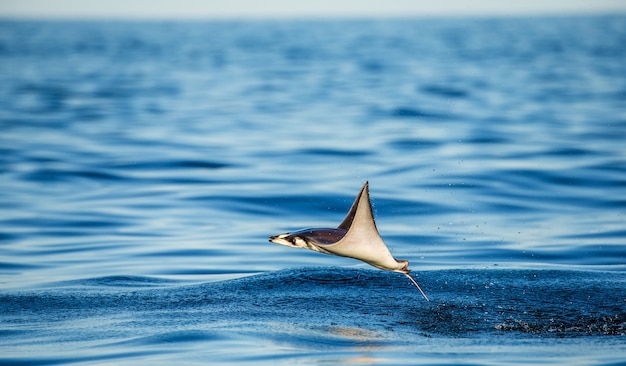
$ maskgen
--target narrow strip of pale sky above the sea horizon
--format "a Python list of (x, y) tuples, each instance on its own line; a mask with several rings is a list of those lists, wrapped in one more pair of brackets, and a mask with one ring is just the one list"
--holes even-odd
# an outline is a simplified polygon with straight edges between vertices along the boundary
[(0, 0), (0, 18), (268, 18), (626, 14), (626, 0)]

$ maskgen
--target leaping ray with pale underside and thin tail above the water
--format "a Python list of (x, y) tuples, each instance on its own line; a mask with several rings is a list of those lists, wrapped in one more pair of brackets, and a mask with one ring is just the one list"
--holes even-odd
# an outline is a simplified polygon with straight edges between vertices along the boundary
[(424, 298), (429, 300), (415, 279), (409, 274), (409, 262), (395, 259), (380, 237), (370, 203), (368, 182), (365, 182), (352, 207), (350, 207), (350, 211), (336, 229), (305, 229), (294, 233), (270, 236), (270, 241), (276, 244), (350, 257), (382, 270), (403, 273), (417, 287)]

